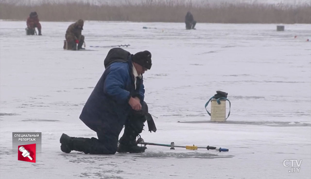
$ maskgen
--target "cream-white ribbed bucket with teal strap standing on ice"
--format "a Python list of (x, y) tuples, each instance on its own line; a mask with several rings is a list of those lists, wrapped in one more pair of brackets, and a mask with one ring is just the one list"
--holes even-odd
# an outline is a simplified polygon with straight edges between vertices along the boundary
[(220, 100), (220, 104), (218, 104), (216, 99), (211, 100), (211, 121), (226, 121), (226, 101), (227, 100)]

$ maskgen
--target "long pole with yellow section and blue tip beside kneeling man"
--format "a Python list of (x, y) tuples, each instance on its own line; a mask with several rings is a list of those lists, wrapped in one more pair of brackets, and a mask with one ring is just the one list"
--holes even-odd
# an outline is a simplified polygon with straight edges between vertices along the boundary
[(171, 142), (170, 145), (168, 144), (157, 144), (157, 143), (150, 143), (150, 142), (144, 142), (143, 139), (141, 140), (137, 140), (137, 144), (142, 144), (142, 145), (157, 145), (157, 146), (165, 146), (165, 147), (170, 147), (171, 150), (175, 150), (175, 147), (181, 147), (181, 148), (186, 148), (187, 150), (197, 150), (197, 149), (207, 149), (207, 150), (217, 150), (219, 152), (228, 152), (229, 149), (225, 149), (225, 148), (217, 148), (217, 147), (213, 147), (213, 146), (209, 146), (207, 145), (207, 147), (200, 147), (200, 146), (195, 146), (195, 145), (175, 145), (174, 142)]

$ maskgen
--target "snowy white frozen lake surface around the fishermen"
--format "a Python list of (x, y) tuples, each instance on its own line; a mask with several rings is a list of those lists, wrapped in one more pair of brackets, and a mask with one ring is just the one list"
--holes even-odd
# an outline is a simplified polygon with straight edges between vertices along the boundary
[[(0, 21), (1, 178), (311, 178), (310, 24), (277, 32), (277, 24), (185, 30), (183, 23), (86, 21), (82, 34), (96, 51), (64, 51), (70, 23), (41, 22), (43, 36), (26, 36), (26, 22)], [(143, 154), (62, 153), (62, 133), (96, 137), (79, 115), (110, 48), (89, 46), (119, 44), (152, 53), (145, 101), (158, 130), (146, 126), (146, 142), (229, 152), (147, 146)], [(210, 122), (204, 109), (216, 90), (229, 93), (227, 123)], [(36, 163), (17, 161), (12, 132), (42, 132)], [(302, 159), (299, 173), (288, 172), (285, 159)]]

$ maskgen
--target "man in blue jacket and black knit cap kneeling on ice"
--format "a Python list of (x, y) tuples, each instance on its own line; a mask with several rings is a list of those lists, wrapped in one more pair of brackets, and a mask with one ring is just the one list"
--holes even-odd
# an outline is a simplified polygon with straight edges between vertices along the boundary
[[(147, 120), (149, 131), (156, 127), (144, 101), (142, 74), (151, 69), (151, 53), (141, 51), (132, 55), (122, 48), (113, 48), (104, 60), (105, 71), (86, 101), (80, 119), (97, 133), (92, 137), (60, 138), (61, 150), (86, 154), (139, 153), (146, 150), (138, 146), (136, 137)], [(123, 136), (119, 134), (125, 125)]]

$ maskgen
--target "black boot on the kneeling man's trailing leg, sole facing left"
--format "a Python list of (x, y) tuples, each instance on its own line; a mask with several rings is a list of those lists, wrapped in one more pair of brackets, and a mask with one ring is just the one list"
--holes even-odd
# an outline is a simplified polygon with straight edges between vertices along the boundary
[(61, 143), (60, 149), (65, 153), (70, 153), (72, 150), (90, 153), (90, 145), (92, 139), (83, 137), (70, 137), (66, 134), (62, 134), (59, 142)]

